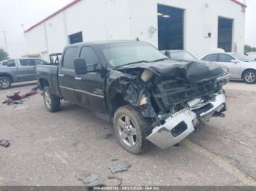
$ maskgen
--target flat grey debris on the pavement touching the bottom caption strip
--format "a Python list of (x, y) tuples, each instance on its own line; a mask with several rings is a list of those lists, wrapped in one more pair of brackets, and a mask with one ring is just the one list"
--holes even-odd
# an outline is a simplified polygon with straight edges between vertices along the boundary
[(99, 179), (99, 176), (95, 174), (90, 174), (88, 172), (77, 175), (76, 176), (78, 180), (83, 182), (83, 184), (86, 185), (86, 187), (93, 188), (93, 187), (104, 187), (105, 184), (102, 182), (101, 179)]

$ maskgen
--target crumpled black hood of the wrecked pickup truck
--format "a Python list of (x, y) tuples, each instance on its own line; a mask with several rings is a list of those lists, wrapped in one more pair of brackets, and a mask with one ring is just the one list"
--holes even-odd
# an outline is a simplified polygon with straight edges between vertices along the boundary
[(160, 61), (135, 63), (120, 67), (119, 71), (149, 69), (159, 77), (166, 79), (184, 79), (187, 82), (199, 82), (218, 77), (225, 71), (216, 63), (206, 61)]

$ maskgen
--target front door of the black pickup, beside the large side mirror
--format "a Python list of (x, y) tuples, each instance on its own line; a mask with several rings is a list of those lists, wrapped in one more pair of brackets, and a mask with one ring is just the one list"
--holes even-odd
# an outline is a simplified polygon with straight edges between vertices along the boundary
[[(84, 46), (80, 51), (80, 58), (84, 58), (87, 70), (92, 71), (76, 77), (76, 91), (80, 105), (89, 107), (101, 114), (107, 114), (105, 106), (105, 67), (99, 60), (99, 56), (93, 47)], [(101, 71), (93, 71), (94, 67), (89, 65), (99, 64)], [(102, 67), (100, 67), (102, 66)]]

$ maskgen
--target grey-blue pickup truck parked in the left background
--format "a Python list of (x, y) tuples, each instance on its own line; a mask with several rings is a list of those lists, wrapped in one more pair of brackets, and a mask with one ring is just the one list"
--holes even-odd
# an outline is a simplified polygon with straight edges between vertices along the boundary
[(39, 58), (17, 58), (4, 62), (0, 67), (0, 89), (9, 88), (14, 82), (36, 80), (35, 67), (47, 64)]

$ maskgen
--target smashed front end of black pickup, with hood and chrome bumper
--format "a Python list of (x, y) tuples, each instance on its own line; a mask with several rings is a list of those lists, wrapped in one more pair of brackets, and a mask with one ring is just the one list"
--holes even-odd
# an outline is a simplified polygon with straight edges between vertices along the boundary
[[(222, 86), (229, 74), (214, 63), (161, 61), (118, 69), (116, 90), (151, 119), (146, 138), (165, 149), (226, 110)], [(115, 80), (116, 81), (116, 80)]]

